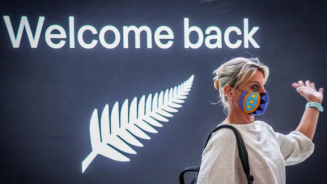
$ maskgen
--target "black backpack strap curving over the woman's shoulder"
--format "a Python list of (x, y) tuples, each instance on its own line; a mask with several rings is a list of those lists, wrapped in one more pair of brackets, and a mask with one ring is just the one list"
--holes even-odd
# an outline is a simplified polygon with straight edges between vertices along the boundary
[(236, 141), (237, 141), (237, 146), (238, 146), (238, 154), (239, 154), (239, 158), (240, 158), (240, 161), (242, 163), (242, 166), (243, 166), (244, 173), (247, 176), (248, 183), (252, 184), (253, 180), (254, 180), (254, 177), (250, 174), (248, 151), (247, 151), (246, 146), (244, 145), (244, 141), (242, 139), (242, 136), (240, 135), (240, 133), (238, 132), (238, 130), (235, 127), (233, 127), (232, 125), (229, 125), (229, 124), (222, 124), (222, 125), (217, 126), (210, 133), (209, 137), (207, 138), (207, 141), (206, 141), (206, 144), (205, 144), (204, 148), (207, 146), (207, 144), (209, 142), (209, 139), (211, 138), (211, 135), (214, 132), (216, 132), (218, 129), (222, 128), (222, 127), (231, 128), (233, 130), (233, 132), (234, 132), (234, 134), (236, 136)]

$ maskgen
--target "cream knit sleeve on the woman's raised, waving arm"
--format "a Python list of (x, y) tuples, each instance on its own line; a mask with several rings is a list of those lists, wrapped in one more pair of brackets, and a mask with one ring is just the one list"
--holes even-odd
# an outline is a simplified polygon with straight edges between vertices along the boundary
[(314, 143), (299, 131), (287, 135), (275, 132), (284, 157), (285, 165), (294, 165), (308, 158), (314, 150)]

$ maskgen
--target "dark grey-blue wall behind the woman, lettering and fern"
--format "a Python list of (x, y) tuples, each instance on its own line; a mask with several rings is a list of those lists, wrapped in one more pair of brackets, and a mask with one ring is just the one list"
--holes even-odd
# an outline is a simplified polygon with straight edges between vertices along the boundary
[[(0, 15), (11, 17), (15, 33), (21, 16), (35, 30), (37, 18), (45, 16), (44, 28), (59, 24), (68, 28), (91, 24), (100, 30), (115, 25), (147, 25), (154, 32), (160, 25), (172, 28), (170, 49), (153, 46), (115, 49), (98, 45), (75, 49), (68, 43), (52, 49), (41, 33), (32, 49), (24, 32), (20, 48), (13, 48), (1, 18), (0, 23), (0, 180), (3, 183), (178, 183), (182, 169), (199, 165), (208, 133), (225, 115), (211, 105), (218, 93), (211, 72), (232, 57), (260, 56), (270, 67), (265, 86), (270, 103), (263, 120), (275, 131), (294, 130), (304, 112), (305, 99), (291, 86), (298, 80), (327, 88), (326, 3), (324, 1), (10, 1), (0, 6)], [(208, 26), (225, 30), (259, 26), (255, 39), (261, 48), (199, 49), (183, 47), (183, 18), (203, 31)], [(75, 28), (75, 31), (76, 31)], [(143, 35), (144, 36), (144, 35)], [(91, 39), (88, 37), (86, 39)], [(133, 37), (131, 37), (133, 38)], [(154, 43), (154, 42), (153, 42)], [(133, 43), (130, 44), (134, 46)], [(132, 146), (136, 155), (129, 162), (97, 156), (85, 173), (80, 162), (91, 152), (89, 124), (94, 109), (112, 108), (117, 101), (156, 93), (195, 75), (193, 87), (174, 117), (156, 128), (157, 134)], [(324, 106), (324, 102), (322, 103)], [(320, 113), (313, 142), (314, 153), (304, 162), (286, 167), (287, 183), (321, 183), (327, 164), (325, 112)], [(188, 176), (190, 177), (190, 176)]]

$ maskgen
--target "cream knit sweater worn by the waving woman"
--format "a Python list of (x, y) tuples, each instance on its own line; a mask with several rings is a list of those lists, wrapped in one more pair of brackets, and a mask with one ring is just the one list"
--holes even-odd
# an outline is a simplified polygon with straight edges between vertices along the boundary
[[(239, 131), (246, 145), (254, 184), (286, 183), (285, 165), (304, 161), (314, 150), (313, 142), (299, 131), (284, 135), (275, 132), (264, 121), (232, 126)], [(202, 153), (197, 183), (248, 183), (235, 134), (230, 128), (220, 128), (212, 134)]]

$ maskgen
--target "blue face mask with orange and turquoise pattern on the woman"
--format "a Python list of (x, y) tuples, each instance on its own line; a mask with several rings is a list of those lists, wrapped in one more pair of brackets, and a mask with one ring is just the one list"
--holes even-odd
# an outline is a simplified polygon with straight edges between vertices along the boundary
[[(240, 89), (238, 89), (240, 90)], [(268, 92), (255, 93), (252, 91), (243, 91), (242, 96), (237, 102), (238, 106), (247, 114), (251, 116), (263, 115), (269, 103)]]

